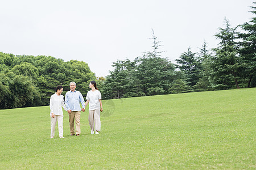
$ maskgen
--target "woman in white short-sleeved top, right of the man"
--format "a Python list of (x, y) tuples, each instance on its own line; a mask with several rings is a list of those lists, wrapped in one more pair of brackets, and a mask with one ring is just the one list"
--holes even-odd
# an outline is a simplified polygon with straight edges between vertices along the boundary
[[(98, 134), (98, 131), (101, 131), (101, 112), (103, 111), (102, 103), (101, 103), (101, 92), (98, 91), (98, 88), (96, 87), (96, 82), (92, 81), (89, 84), (89, 87), (92, 88), (92, 90), (87, 92), (86, 95), (86, 105), (89, 103), (89, 125), (90, 125), (90, 133)], [(94, 128), (94, 122), (95, 122), (95, 128)]]

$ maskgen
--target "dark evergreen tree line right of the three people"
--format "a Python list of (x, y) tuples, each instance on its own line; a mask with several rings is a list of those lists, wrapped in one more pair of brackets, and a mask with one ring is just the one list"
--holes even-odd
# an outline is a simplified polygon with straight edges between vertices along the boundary
[[(255, 7), (251, 8), (255, 15)], [(224, 23), (225, 27), (214, 35), (220, 41), (216, 48), (208, 49), (204, 42), (200, 52), (193, 53), (189, 47), (175, 63), (158, 52), (160, 41), (152, 31), (152, 52), (133, 61), (114, 62), (102, 86), (102, 96), (119, 99), (256, 87), (256, 18), (234, 28), (227, 19)]]

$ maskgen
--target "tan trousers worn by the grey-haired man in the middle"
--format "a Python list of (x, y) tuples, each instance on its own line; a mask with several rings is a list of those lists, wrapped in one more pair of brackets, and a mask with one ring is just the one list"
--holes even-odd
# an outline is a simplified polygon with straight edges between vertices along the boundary
[(75, 134), (75, 128), (74, 128), (74, 120), (76, 120), (76, 134), (81, 133), (80, 129), (80, 111), (72, 111), (71, 113), (68, 113), (69, 116), (69, 128), (70, 128), (70, 133)]

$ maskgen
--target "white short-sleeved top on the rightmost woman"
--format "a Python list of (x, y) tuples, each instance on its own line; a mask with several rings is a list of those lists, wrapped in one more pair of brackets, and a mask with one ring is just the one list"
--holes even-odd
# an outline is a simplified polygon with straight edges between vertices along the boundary
[(86, 100), (90, 100), (89, 101), (89, 111), (93, 111), (95, 109), (101, 109), (101, 104), (100, 101), (101, 100), (101, 92), (98, 90), (95, 91), (88, 91), (87, 95), (86, 95)]

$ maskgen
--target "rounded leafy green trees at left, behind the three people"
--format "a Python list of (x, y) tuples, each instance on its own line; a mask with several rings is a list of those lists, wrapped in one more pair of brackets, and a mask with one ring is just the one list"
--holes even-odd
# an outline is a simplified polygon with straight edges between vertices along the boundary
[(90, 80), (96, 80), (100, 87), (103, 79), (96, 78), (83, 61), (64, 62), (51, 56), (14, 56), (0, 52), (1, 109), (48, 105), (55, 88), (62, 84), (65, 94), (71, 81), (86, 96)]

